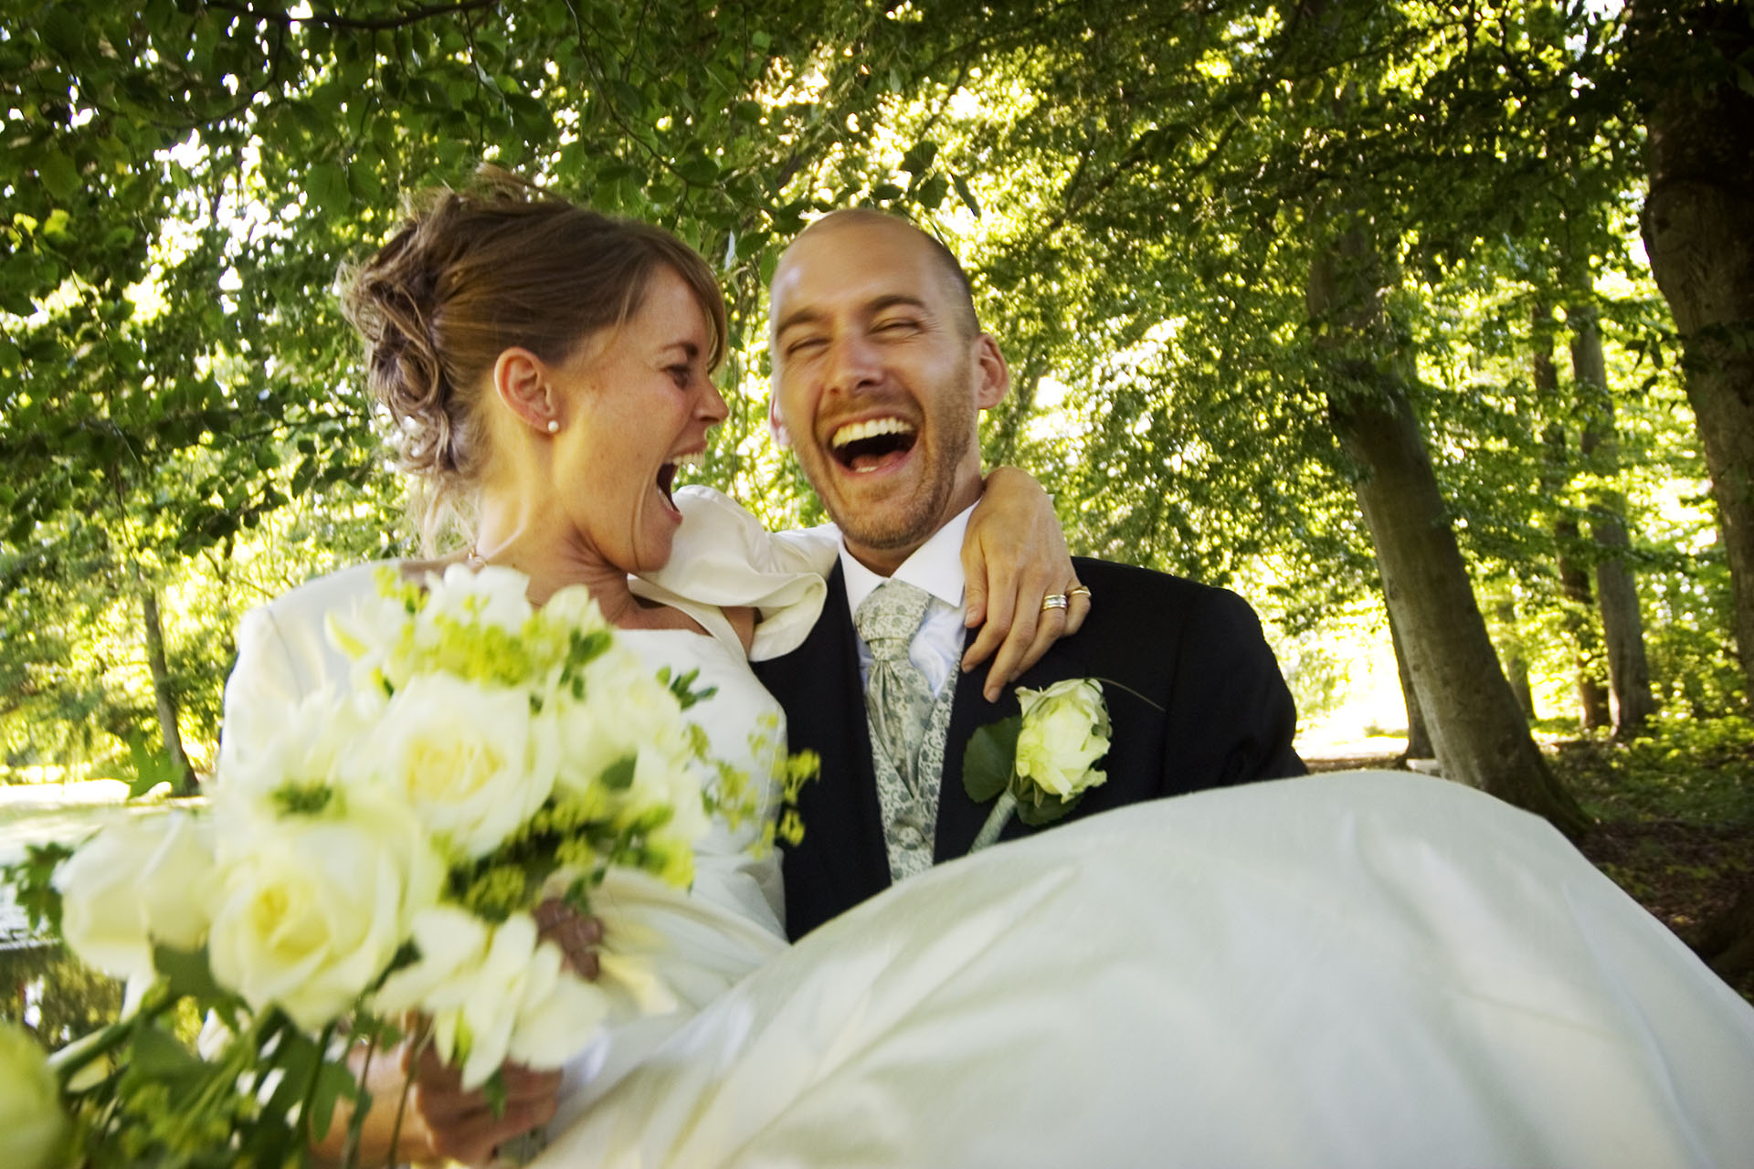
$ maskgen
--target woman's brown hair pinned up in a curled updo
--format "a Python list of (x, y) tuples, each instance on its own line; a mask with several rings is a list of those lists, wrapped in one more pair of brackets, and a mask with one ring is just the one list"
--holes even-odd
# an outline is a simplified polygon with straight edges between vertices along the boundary
[(638, 312), (665, 265), (707, 315), (707, 368), (717, 368), (724, 298), (707, 261), (661, 228), (577, 207), (496, 166), (467, 191), (410, 198), (396, 235), (342, 273), (342, 308), (395, 424), (396, 466), (414, 475), (428, 549), (472, 512), (491, 457), (482, 396), (498, 356), (517, 345), (568, 361)]

